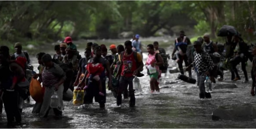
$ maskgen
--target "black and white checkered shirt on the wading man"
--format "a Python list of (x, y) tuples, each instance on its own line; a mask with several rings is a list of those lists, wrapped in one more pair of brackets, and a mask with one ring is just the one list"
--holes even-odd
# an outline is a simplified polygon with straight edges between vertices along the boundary
[(193, 62), (193, 65), (196, 66), (198, 72), (205, 72), (213, 69), (214, 63), (207, 52), (195, 52), (194, 58), (195, 61)]

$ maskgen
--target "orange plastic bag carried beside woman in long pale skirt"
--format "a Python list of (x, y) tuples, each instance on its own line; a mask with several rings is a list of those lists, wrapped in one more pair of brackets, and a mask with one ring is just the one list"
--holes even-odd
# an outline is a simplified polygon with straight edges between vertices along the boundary
[(31, 79), (29, 93), (36, 102), (43, 102), (44, 92), (40, 82), (37, 79)]

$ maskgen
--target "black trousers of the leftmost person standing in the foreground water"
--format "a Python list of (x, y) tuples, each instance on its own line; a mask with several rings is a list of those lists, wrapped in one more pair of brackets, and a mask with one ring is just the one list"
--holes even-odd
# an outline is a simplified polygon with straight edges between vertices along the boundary
[(7, 121), (14, 121), (14, 117), (16, 122), (21, 121), (21, 114), (19, 111), (19, 93), (17, 91), (9, 92), (4, 91), (3, 93), (3, 102), (4, 109), (7, 116)]

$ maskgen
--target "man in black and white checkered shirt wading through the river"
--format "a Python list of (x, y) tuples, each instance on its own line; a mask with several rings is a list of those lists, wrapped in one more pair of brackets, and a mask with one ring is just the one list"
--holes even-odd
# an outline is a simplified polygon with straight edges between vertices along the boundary
[(213, 70), (214, 63), (210, 55), (202, 50), (202, 43), (199, 41), (194, 42), (195, 48), (195, 61), (186, 68), (186, 71), (191, 69), (194, 65), (197, 68), (197, 85), (199, 86), (199, 98), (212, 98), (210, 92), (205, 92), (204, 81), (206, 76), (209, 77), (210, 72)]

